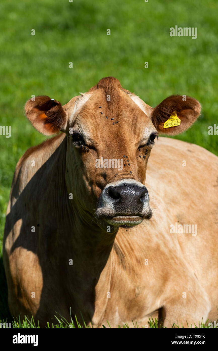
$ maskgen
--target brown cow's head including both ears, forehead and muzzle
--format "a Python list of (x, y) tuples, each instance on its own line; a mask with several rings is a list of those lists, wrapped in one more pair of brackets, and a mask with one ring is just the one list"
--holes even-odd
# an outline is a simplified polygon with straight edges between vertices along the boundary
[[(39, 96), (27, 101), (25, 109), (41, 133), (66, 133), (66, 185), (80, 213), (117, 227), (151, 218), (144, 184), (155, 139), (159, 132), (175, 135), (187, 130), (201, 105), (173, 95), (152, 108), (107, 77), (64, 106)], [(164, 128), (175, 113), (180, 125)]]

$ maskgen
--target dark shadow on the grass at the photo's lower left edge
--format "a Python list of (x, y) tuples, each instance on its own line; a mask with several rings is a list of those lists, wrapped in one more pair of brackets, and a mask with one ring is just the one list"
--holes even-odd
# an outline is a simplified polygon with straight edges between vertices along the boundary
[(2, 256), (0, 256), (0, 319), (5, 321), (12, 319), (8, 307), (8, 288)]

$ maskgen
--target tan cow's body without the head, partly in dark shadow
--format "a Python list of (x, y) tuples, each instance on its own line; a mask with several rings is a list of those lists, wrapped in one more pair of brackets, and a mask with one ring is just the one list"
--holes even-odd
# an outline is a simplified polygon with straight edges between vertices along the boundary
[[(33, 314), (42, 326), (56, 323), (56, 312), (70, 320), (70, 307), (72, 317), (82, 321), (82, 312), (98, 326), (144, 325), (149, 316), (166, 326), (216, 320), (218, 158), (160, 138), (146, 178), (152, 219), (108, 233), (96, 223), (94, 202), (84, 208), (78, 196), (69, 199), (87, 179), (72, 177), (67, 189), (67, 148), (68, 137), (58, 135), (16, 167), (3, 250), (12, 315)], [(197, 224), (197, 235), (170, 233), (176, 223)]]

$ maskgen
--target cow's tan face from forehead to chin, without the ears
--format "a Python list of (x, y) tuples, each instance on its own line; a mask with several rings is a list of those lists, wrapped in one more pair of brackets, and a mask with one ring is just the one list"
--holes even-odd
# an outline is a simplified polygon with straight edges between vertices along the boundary
[(77, 201), (91, 205), (95, 218), (135, 225), (152, 216), (143, 184), (157, 131), (126, 92), (107, 93), (99, 88), (84, 96), (69, 121), (66, 180), (73, 194), (80, 184)]

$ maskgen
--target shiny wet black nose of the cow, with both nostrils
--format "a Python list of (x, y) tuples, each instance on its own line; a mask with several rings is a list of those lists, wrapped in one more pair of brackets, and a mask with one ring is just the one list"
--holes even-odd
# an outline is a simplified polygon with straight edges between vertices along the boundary
[(148, 191), (145, 186), (122, 184), (110, 186), (105, 196), (113, 203), (116, 213), (141, 215), (143, 203), (148, 201)]

